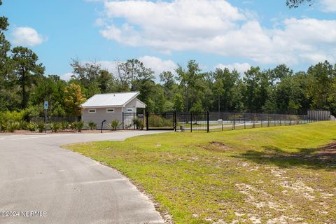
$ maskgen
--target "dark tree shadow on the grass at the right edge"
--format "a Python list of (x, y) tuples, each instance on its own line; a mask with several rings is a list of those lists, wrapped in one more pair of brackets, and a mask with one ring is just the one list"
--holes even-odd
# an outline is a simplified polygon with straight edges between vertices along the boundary
[(263, 146), (263, 151), (250, 150), (235, 158), (281, 168), (303, 167), (309, 169), (336, 170), (336, 143), (321, 148), (297, 148), (298, 153), (288, 153), (274, 146)]

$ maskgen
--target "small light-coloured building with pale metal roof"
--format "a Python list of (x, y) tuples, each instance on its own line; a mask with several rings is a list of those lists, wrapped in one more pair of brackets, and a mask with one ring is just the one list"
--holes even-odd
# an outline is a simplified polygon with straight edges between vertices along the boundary
[[(139, 92), (116, 92), (109, 94), (95, 94), (87, 102), (82, 104), (82, 120), (85, 123), (90, 121), (97, 124), (97, 129), (101, 128), (102, 121), (106, 120), (103, 129), (110, 129), (108, 124), (112, 120), (119, 120), (120, 124), (124, 120), (133, 118), (133, 113), (137, 114), (137, 109), (145, 109), (146, 104), (137, 99)], [(121, 126), (121, 125), (120, 125)]]

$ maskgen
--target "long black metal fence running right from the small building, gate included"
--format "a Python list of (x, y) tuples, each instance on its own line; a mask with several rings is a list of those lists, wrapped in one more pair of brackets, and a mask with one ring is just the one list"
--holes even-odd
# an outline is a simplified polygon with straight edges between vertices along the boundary
[[(219, 132), (258, 127), (301, 125), (328, 117), (310, 118), (305, 114), (228, 113), (228, 112), (167, 112), (123, 113), (123, 130), (175, 130), (188, 132)], [(141, 125), (139, 125), (141, 124)]]

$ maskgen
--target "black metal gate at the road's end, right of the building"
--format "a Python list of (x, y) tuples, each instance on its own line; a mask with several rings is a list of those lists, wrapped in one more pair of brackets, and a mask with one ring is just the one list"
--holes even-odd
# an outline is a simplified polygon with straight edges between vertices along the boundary
[(147, 130), (176, 130), (176, 113), (146, 113)]

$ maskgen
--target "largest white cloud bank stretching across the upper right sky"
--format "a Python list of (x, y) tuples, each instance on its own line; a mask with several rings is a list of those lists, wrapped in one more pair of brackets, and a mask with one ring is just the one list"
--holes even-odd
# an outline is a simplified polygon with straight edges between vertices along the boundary
[[(267, 28), (257, 15), (225, 0), (106, 0), (104, 8), (99, 19), (104, 21), (99, 23), (102, 36), (158, 52), (197, 50), (259, 64), (288, 65), (336, 56), (332, 50), (336, 20), (288, 18), (276, 28)], [(125, 22), (116, 23), (116, 18)], [(319, 57), (314, 57), (316, 52)]]

